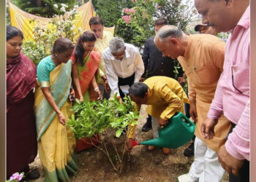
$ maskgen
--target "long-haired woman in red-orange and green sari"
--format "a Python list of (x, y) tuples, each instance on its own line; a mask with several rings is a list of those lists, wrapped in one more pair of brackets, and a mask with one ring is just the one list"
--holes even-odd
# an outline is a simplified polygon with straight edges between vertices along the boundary
[[(83, 32), (78, 39), (71, 58), (75, 97), (79, 100), (92, 101), (102, 99), (97, 82), (100, 76), (104, 81), (107, 78), (99, 69), (100, 55), (94, 51), (96, 40), (97, 37), (93, 31)], [(105, 89), (107, 89), (106, 86)]]

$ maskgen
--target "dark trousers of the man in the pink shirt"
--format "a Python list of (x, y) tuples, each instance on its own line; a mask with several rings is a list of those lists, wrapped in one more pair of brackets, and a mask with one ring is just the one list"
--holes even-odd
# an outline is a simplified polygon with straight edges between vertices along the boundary
[[(236, 127), (236, 124), (233, 124), (231, 122), (230, 132), (233, 131), (234, 127)], [(232, 173), (230, 173), (229, 177), (230, 177), (230, 182), (249, 182), (249, 161), (244, 159), (244, 164), (239, 170), (239, 176), (233, 175)]]

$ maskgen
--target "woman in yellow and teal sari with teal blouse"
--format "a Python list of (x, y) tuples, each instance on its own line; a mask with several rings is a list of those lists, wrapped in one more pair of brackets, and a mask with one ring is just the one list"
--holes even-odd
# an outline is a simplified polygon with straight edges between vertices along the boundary
[(37, 66), (39, 86), (35, 91), (35, 113), (39, 159), (45, 171), (45, 180), (69, 181), (69, 174), (78, 170), (74, 159), (75, 138), (65, 125), (71, 116), (72, 64), (74, 50), (72, 41), (57, 39), (51, 55), (43, 58)]

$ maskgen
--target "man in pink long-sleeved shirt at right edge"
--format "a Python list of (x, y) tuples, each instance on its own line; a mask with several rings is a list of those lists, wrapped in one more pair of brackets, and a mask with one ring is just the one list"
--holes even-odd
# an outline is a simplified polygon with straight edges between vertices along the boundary
[(224, 114), (233, 131), (218, 151), (219, 162), (230, 181), (249, 181), (249, 0), (195, 0), (203, 23), (230, 31), (225, 63), (208, 118), (201, 124), (206, 139), (214, 138), (214, 126)]

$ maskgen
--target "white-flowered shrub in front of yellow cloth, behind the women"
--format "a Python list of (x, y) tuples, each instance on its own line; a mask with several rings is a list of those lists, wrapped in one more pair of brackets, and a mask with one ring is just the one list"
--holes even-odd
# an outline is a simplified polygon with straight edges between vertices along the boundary
[[(58, 7), (58, 5), (54, 4), (54, 7)], [(61, 4), (62, 11), (66, 11), (66, 7), (67, 5)], [(78, 32), (74, 31), (75, 26), (73, 25), (73, 20), (75, 20), (77, 8), (78, 6), (75, 5), (74, 9), (70, 12), (65, 12), (64, 15), (54, 15), (50, 21), (51, 27), (49, 28), (42, 28), (39, 25), (35, 26), (34, 41), (26, 41), (23, 44), (23, 53), (33, 60), (35, 65), (42, 58), (50, 55), (53, 42), (59, 37), (66, 37), (75, 42), (78, 32), (82, 31), (81, 28), (78, 29)]]

